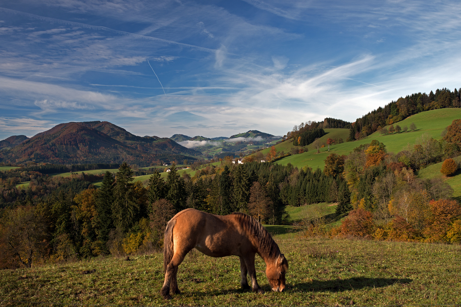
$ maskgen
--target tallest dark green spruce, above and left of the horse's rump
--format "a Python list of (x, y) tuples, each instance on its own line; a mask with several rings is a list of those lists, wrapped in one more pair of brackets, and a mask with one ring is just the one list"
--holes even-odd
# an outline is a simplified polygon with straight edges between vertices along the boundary
[(127, 233), (135, 225), (139, 214), (139, 204), (135, 198), (132, 175), (133, 171), (126, 162), (120, 165), (117, 174), (115, 174), (112, 219), (114, 226), (123, 233)]

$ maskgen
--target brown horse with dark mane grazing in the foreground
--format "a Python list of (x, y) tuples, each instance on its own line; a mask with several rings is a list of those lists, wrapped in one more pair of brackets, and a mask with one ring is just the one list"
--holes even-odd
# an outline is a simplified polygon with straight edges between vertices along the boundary
[(211, 257), (239, 256), (242, 288), (249, 288), (248, 273), (253, 291), (264, 293), (258, 285), (254, 269), (254, 255), (258, 254), (266, 262), (266, 276), (271, 289), (280, 292), (285, 289), (288, 261), (257, 220), (239, 212), (214, 215), (185, 209), (176, 214), (165, 229), (165, 282), (160, 290), (165, 299), (171, 298), (170, 287), (174, 293), (180, 293), (177, 287), (177, 268), (193, 248)]

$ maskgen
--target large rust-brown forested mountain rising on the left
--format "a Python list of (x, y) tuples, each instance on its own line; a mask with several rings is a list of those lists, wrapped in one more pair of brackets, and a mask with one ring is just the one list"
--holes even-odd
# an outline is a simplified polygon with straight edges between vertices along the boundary
[[(7, 140), (3, 140), (5, 144)], [(8, 141), (11, 143), (11, 141)], [(140, 137), (110, 122), (68, 122), (36, 134), (0, 152), (0, 161), (71, 163), (152, 162), (195, 160), (199, 152), (169, 138)]]

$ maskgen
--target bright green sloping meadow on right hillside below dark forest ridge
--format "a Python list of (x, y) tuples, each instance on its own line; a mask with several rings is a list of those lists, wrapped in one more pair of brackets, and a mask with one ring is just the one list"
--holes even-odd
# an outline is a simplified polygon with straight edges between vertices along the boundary
[[(402, 149), (408, 143), (414, 144), (415, 140), (419, 138), (423, 133), (429, 133), (434, 139), (440, 139), (440, 134), (445, 129), (445, 127), (449, 126), (454, 119), (458, 118), (461, 118), (461, 109), (458, 108), (426, 111), (410, 116), (407, 119), (394, 124), (394, 126), (399, 125), (400, 127), (409, 127), (410, 124), (414, 122), (417, 127), (416, 131), (400, 132), (385, 135), (379, 135), (379, 132), (375, 132), (369, 135), (368, 137), (358, 141), (332, 145), (330, 146), (330, 152), (328, 152), (327, 147), (320, 149), (320, 152), (318, 154), (316, 150), (309, 149), (308, 152), (288, 156), (284, 159), (277, 161), (276, 163), (280, 163), (282, 165), (287, 165), (288, 163), (291, 163), (297, 167), (303, 167), (307, 165), (313, 169), (316, 169), (317, 167), (323, 169), (325, 167), (325, 158), (331, 153), (336, 153), (337, 155), (349, 155), (349, 152), (352, 151), (355, 147), (361, 144), (370, 143), (372, 139), (376, 139), (384, 143), (384, 145), (386, 145), (386, 149), (388, 152), (397, 153), (399, 151), (402, 151)], [(325, 129), (325, 131), (326, 130), (327, 129)], [(340, 130), (346, 131), (347, 129)], [(328, 134), (326, 134), (322, 138), (325, 137), (328, 137)], [(287, 142), (283, 142), (281, 144), (276, 145), (276, 148), (278, 148), (277, 146), (280, 146), (284, 143)], [(292, 142), (290, 144), (291, 146), (293, 146)], [(284, 146), (284, 148), (288, 148), (286, 145)]]

